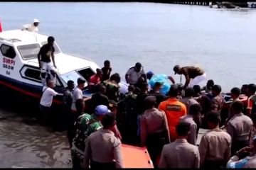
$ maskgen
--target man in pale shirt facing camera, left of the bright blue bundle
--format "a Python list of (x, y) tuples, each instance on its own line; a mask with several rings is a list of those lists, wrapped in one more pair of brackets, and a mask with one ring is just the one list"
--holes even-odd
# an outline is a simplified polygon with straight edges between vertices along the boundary
[(142, 64), (137, 62), (134, 67), (128, 69), (125, 74), (127, 84), (138, 86), (139, 83), (146, 82), (146, 74), (142, 67)]

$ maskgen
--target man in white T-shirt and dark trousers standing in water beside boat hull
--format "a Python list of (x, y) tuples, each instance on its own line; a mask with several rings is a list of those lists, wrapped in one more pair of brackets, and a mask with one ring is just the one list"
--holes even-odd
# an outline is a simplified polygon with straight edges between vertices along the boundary
[(43, 94), (40, 101), (40, 111), (43, 114), (43, 119), (46, 124), (50, 124), (50, 106), (53, 103), (53, 96), (58, 93), (53, 90), (55, 83), (53, 80), (49, 79), (47, 85), (43, 87)]

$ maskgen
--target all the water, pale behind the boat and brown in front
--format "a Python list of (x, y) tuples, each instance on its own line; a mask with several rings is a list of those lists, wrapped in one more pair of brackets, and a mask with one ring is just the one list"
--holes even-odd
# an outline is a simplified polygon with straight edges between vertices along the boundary
[[(196, 64), (224, 91), (255, 83), (256, 11), (156, 3), (1, 2), (4, 30), (41, 21), (63, 52), (90, 57), (124, 77), (135, 62), (174, 76), (175, 64)], [(57, 66), (60, 63), (57, 63)], [(179, 76), (174, 76), (179, 81)], [(6, 116), (6, 110), (0, 110)], [(65, 132), (28, 125), (11, 112), (0, 121), (0, 167), (65, 167)], [(8, 114), (7, 114), (8, 115)], [(28, 118), (29, 119), (29, 118)]]

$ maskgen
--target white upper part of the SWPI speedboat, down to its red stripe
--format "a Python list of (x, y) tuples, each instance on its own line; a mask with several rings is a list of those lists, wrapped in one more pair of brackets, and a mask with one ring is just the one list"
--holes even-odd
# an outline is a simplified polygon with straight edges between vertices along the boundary
[[(0, 33), (0, 88), (15, 91), (21, 96), (30, 96), (39, 101), (42, 93), (41, 71), (38, 66), (38, 52), (47, 43), (47, 35), (27, 30), (6, 30)], [(56, 91), (63, 92), (68, 80), (76, 84), (79, 77), (89, 81), (99, 68), (95, 62), (84, 57), (68, 55), (55, 42), (55, 63), (58, 67)], [(84, 97), (90, 96), (86, 90)], [(53, 103), (61, 104), (62, 98)]]

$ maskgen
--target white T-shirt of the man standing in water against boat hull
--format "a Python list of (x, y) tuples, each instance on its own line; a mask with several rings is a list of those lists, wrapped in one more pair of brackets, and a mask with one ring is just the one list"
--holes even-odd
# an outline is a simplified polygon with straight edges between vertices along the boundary
[[(47, 89), (46, 89), (47, 88)], [(58, 93), (51, 89), (48, 86), (43, 87), (43, 95), (41, 97), (40, 104), (46, 107), (50, 107), (53, 103), (53, 96), (56, 96)]]

